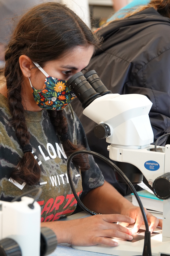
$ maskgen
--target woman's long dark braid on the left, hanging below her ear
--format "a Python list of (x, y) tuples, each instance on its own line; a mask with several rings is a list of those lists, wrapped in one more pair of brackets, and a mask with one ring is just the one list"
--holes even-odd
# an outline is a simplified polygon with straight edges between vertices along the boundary
[[(19, 61), (17, 61), (17, 58), (13, 58), (17, 50), (19, 51), (19, 49), (12, 47), (12, 45), (7, 49), (4, 74), (8, 89), (8, 106), (12, 115), (11, 124), (15, 129), (20, 145), (23, 147), (26, 144), (30, 144), (30, 133), (26, 126), (22, 105), (22, 76), (20, 75)], [(24, 153), (23, 158), (11, 173), (11, 178), (20, 182), (26, 182), (28, 185), (36, 184), (39, 181), (40, 167), (31, 152)]]

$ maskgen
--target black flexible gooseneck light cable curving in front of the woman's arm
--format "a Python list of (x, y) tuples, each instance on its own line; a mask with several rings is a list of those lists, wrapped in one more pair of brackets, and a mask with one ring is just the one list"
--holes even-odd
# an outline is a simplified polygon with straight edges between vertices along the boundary
[(141, 212), (142, 212), (142, 216), (143, 216), (143, 220), (144, 220), (144, 223), (145, 223), (145, 227), (146, 227), (146, 231), (145, 231), (145, 239), (144, 239), (144, 248), (143, 248), (143, 254), (142, 256), (152, 256), (151, 254), (151, 232), (149, 231), (149, 225), (148, 225), (148, 221), (147, 221), (147, 216), (146, 216), (146, 213), (144, 211), (144, 208), (143, 208), (143, 205), (142, 205), (142, 202), (138, 196), (138, 193), (136, 191), (136, 189), (134, 188), (134, 186), (132, 185), (132, 183), (130, 182), (130, 180), (126, 177), (126, 175), (121, 171), (120, 168), (118, 168), (115, 164), (113, 164), (112, 161), (110, 161), (109, 159), (107, 159), (106, 157), (104, 157), (103, 155), (100, 155), (96, 152), (93, 152), (93, 151), (90, 151), (90, 150), (79, 150), (79, 151), (76, 151), (74, 153), (72, 153), (69, 158), (68, 158), (68, 161), (67, 161), (67, 175), (68, 175), (68, 179), (69, 179), (69, 182), (70, 182), (70, 187), (71, 187), (71, 190), (73, 192), (73, 195), (75, 197), (75, 199), (77, 200), (78, 204), (80, 205), (80, 207), (86, 211), (87, 213), (91, 214), (91, 215), (97, 215), (97, 214), (100, 214), (100, 213), (95, 213), (91, 210), (89, 210), (82, 202), (81, 200), (79, 199), (79, 196), (77, 195), (76, 193), (76, 190), (75, 190), (75, 187), (74, 187), (74, 184), (73, 184), (73, 181), (72, 181), (72, 178), (71, 178), (71, 173), (70, 173), (70, 164), (71, 164), (71, 160), (72, 158), (75, 156), (75, 155), (79, 155), (79, 154), (89, 154), (89, 155), (93, 155), (93, 156), (96, 156), (97, 158), (100, 158), (101, 160), (103, 160), (104, 162), (106, 162), (107, 164), (109, 164), (112, 168), (115, 168), (116, 171), (121, 175), (121, 177), (125, 180), (125, 182), (128, 184), (128, 186), (130, 187), (130, 189), (133, 191), (135, 197), (136, 197), (136, 200), (138, 201), (138, 204), (139, 204), (139, 207), (141, 209)]

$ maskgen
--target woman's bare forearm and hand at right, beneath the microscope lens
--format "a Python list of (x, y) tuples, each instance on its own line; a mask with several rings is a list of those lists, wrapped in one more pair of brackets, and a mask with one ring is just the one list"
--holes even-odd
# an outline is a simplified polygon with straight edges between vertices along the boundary
[[(102, 186), (89, 191), (83, 197), (82, 201), (88, 209), (91, 209), (96, 213), (120, 213), (133, 218), (136, 221), (134, 225), (135, 232), (138, 232), (139, 228), (144, 223), (140, 208), (134, 206), (130, 201), (120, 195), (119, 192), (108, 182), (104, 182)], [(162, 227), (162, 220), (155, 218), (146, 209), (145, 212), (151, 233), (157, 225)], [(126, 223), (125, 226), (128, 226), (128, 224)]]

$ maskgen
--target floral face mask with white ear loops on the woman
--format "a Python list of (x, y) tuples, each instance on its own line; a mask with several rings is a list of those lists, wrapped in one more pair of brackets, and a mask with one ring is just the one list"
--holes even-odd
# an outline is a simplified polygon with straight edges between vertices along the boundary
[(35, 89), (30, 81), (36, 104), (47, 110), (61, 110), (76, 98), (73, 91), (66, 86), (66, 81), (49, 76), (36, 62), (37, 68), (46, 76), (44, 87)]

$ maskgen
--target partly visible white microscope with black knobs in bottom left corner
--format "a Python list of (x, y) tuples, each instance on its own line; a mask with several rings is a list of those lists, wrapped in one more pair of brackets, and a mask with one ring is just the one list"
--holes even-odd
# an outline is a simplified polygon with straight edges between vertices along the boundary
[(40, 205), (33, 198), (22, 196), (19, 202), (0, 200), (0, 256), (51, 254), (57, 237), (50, 228), (40, 227), (40, 218)]

